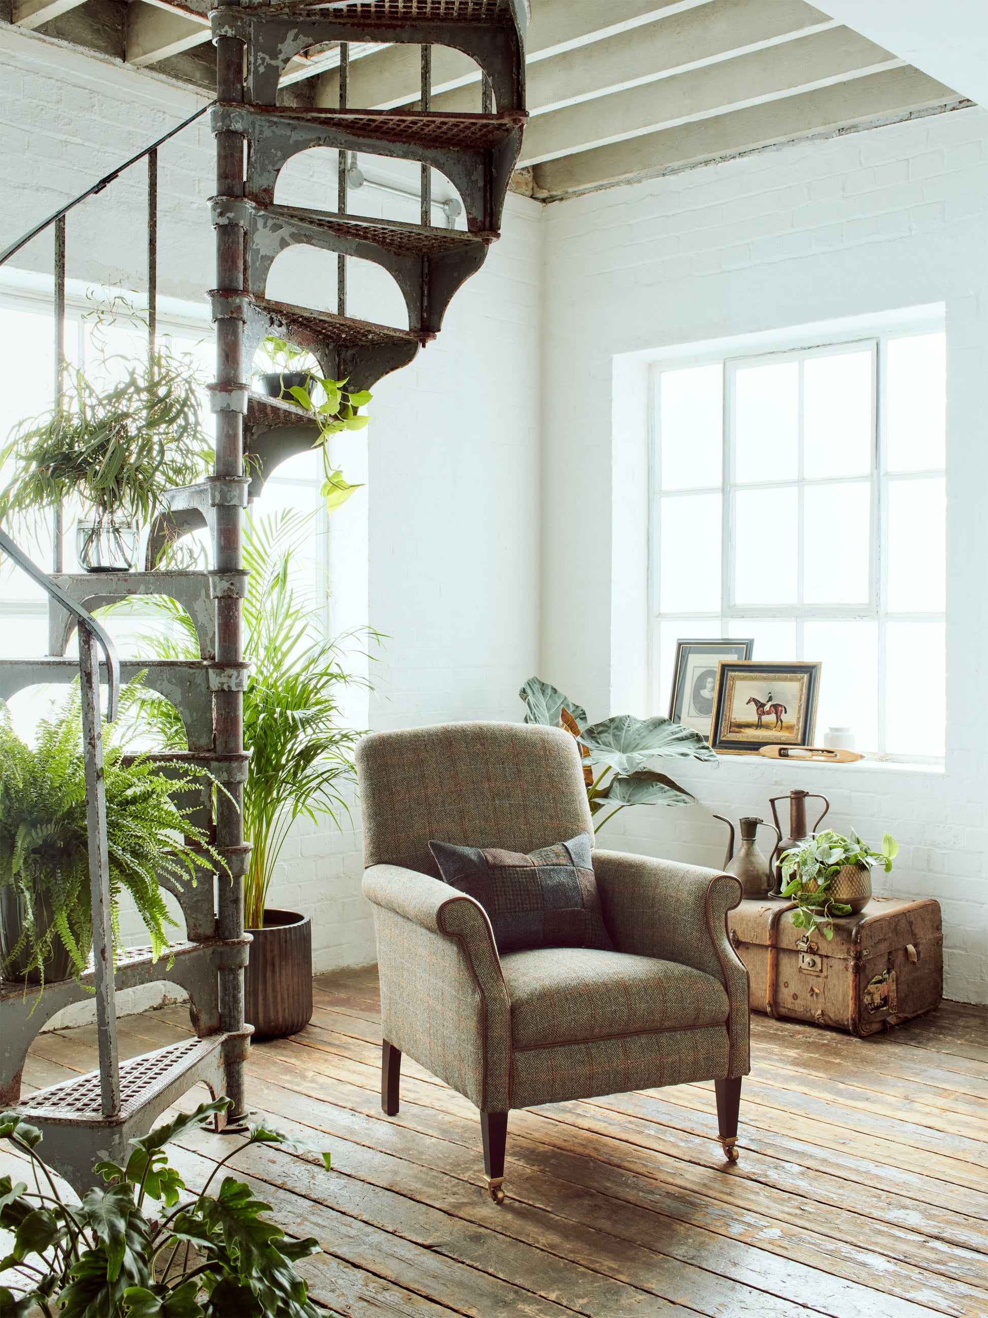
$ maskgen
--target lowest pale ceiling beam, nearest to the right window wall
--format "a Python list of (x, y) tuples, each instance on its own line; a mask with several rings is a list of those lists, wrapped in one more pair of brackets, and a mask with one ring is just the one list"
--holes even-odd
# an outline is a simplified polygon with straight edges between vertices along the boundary
[(547, 161), (532, 171), (536, 195), (566, 196), (634, 182), (800, 137), (871, 127), (956, 100), (955, 91), (918, 69), (893, 69)]

